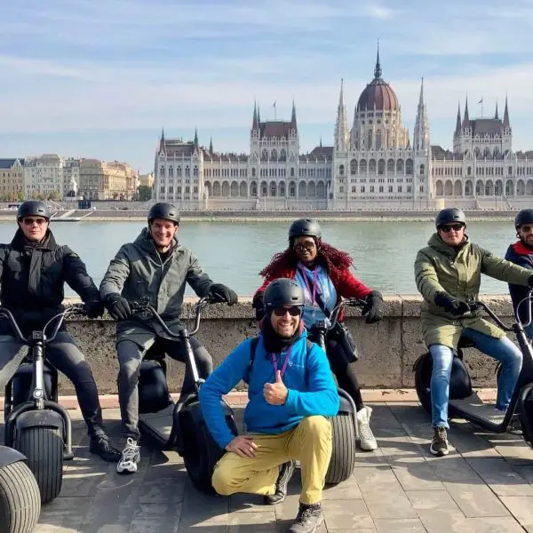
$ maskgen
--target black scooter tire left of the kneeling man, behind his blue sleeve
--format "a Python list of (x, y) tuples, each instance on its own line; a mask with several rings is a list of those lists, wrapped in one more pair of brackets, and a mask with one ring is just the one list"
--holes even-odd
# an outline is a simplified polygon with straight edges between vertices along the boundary
[[(204, 494), (217, 494), (211, 479), (215, 465), (226, 452), (215, 442), (205, 422), (195, 424), (187, 413), (182, 414), (182, 417), (180, 427), (185, 437), (182, 456), (187, 475), (195, 489)], [(226, 422), (230, 431), (238, 434), (234, 419), (226, 417)]]

